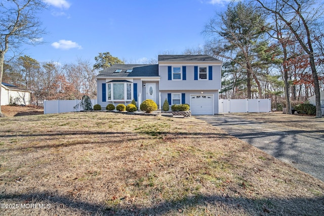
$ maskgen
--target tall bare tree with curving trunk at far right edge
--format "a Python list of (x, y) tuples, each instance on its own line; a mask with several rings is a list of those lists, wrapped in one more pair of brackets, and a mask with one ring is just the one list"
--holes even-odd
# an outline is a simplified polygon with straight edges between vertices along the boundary
[(320, 89), (316, 61), (314, 54), (314, 41), (316, 41), (316, 27), (322, 22), (323, 5), (317, 0), (254, 0), (257, 6), (270, 15), (276, 15), (296, 37), (296, 40), (309, 57), (310, 68), (314, 79), (316, 117), (321, 118)]

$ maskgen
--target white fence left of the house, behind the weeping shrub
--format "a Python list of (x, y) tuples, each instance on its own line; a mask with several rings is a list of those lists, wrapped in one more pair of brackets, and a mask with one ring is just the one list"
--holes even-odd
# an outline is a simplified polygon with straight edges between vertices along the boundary
[[(44, 114), (73, 112), (82, 110), (81, 107), (74, 109), (73, 107), (80, 103), (81, 100), (58, 100), (44, 101)], [(97, 100), (91, 100), (92, 105), (97, 104)]]

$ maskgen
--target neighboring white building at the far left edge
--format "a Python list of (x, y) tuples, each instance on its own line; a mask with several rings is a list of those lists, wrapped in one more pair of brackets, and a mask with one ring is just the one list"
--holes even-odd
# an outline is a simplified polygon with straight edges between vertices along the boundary
[(17, 87), (16, 85), (1, 83), (1, 105), (16, 103), (18, 105), (29, 105), (30, 91)]

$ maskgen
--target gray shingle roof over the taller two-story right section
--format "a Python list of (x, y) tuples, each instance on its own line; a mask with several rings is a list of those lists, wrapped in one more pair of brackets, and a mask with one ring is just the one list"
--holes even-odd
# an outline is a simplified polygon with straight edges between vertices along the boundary
[(158, 62), (222, 62), (208, 55), (159, 55)]

